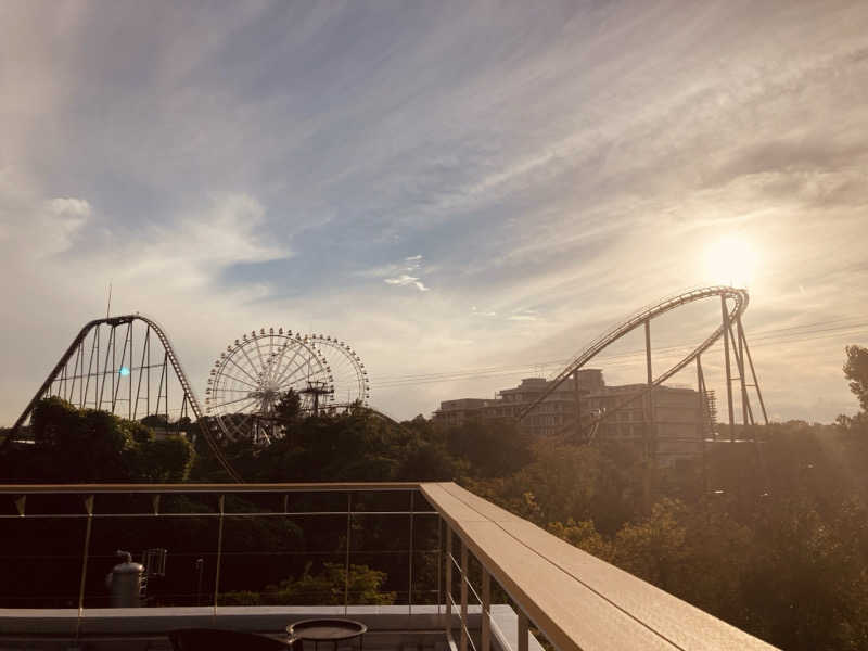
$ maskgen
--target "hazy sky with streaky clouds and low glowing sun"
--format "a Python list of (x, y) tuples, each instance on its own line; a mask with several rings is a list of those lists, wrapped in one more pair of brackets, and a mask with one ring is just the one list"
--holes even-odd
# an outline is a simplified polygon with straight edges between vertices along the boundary
[[(110, 283), (200, 393), (284, 327), (350, 343), (397, 418), (744, 285), (769, 414), (829, 422), (866, 227), (865, 2), (0, 1), (0, 424)], [(642, 381), (640, 345), (595, 366)]]

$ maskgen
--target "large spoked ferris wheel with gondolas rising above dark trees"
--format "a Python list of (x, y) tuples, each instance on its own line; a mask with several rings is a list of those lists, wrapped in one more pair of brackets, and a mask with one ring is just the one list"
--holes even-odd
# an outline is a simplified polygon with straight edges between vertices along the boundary
[(206, 412), (230, 439), (269, 443), (283, 435), (278, 407), (290, 390), (302, 410), (315, 414), (370, 397), (365, 365), (345, 342), (261, 328), (228, 345), (215, 361)]

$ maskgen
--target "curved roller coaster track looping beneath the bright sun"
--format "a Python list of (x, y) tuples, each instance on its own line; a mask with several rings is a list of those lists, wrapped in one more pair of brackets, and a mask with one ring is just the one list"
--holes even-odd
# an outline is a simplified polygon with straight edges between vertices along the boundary
[[(546, 386), (546, 391), (542, 392), (535, 400), (527, 404), (516, 416), (516, 420), (521, 422), (531, 411), (536, 409), (548, 396), (550, 396), (557, 388), (563, 384), (570, 376), (573, 375), (576, 371), (582, 369), (585, 365), (587, 365), (591, 359), (593, 359), (598, 354), (600, 354), (603, 349), (608, 346), (612, 345), (614, 342), (623, 337), (624, 335), (633, 332), (640, 326), (644, 326), (649, 323), (651, 319), (659, 317), (667, 311), (687, 305), (689, 303), (693, 303), (695, 301), (702, 301), (704, 298), (711, 298), (719, 296), (726, 305), (727, 299), (732, 299), (732, 307), (727, 314), (727, 319), (725, 323), (720, 323), (720, 326), (712, 332), (699, 346), (697, 346), (690, 354), (688, 354), (684, 359), (681, 359), (678, 363), (673, 366), (671, 369), (655, 378), (653, 381), (649, 382), (646, 388), (638, 393), (635, 396), (631, 396), (629, 399), (625, 400), (623, 404), (618, 405), (615, 409), (611, 410), (610, 412), (617, 411), (633, 403), (642, 396), (647, 395), (655, 386), (663, 384), (666, 380), (675, 375), (678, 371), (682, 370), (686, 366), (694, 361), (702, 353), (707, 350), (717, 340), (719, 340), (725, 332), (728, 332), (730, 328), (729, 324), (732, 322), (740, 322), (741, 316), (744, 314), (744, 310), (748, 309), (748, 303), (750, 297), (748, 296), (748, 291), (742, 289), (736, 289), (730, 286), (710, 286), (710, 288), (701, 288), (697, 290), (691, 290), (689, 292), (685, 292), (681, 294), (677, 294), (675, 296), (671, 296), (661, 301), (655, 305), (651, 305), (640, 309), (638, 312), (634, 314), (631, 317), (627, 318), (626, 320), (622, 321), (611, 330), (608, 330), (592, 342), (590, 342), (576, 357), (575, 359), (566, 366), (553, 380), (551, 380), (548, 385)], [(741, 361), (739, 363), (742, 363)], [(762, 401), (762, 397), (761, 397)], [(764, 408), (765, 409), (765, 408)], [(596, 425), (599, 424), (600, 421), (603, 420), (603, 417), (596, 419), (595, 422), (591, 423), (591, 427), (596, 429)]]

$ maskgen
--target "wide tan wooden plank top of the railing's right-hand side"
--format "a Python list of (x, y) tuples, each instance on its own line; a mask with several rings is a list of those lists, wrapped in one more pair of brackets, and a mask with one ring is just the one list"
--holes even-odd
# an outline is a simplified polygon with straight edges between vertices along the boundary
[(422, 492), (561, 650), (774, 649), (457, 484)]

